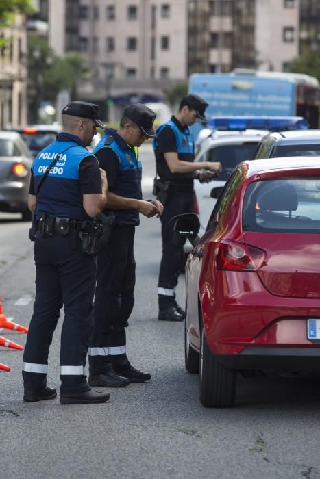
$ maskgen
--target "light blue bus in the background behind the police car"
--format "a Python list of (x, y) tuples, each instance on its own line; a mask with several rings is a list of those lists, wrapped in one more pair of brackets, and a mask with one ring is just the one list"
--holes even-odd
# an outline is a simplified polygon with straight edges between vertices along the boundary
[(320, 88), (301, 73), (237, 69), (231, 73), (193, 73), (189, 93), (209, 106), (206, 116), (304, 116), (319, 127)]

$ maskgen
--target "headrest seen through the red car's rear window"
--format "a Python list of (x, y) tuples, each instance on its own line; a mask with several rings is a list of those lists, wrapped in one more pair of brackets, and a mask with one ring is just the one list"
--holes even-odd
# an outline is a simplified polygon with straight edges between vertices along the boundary
[(273, 181), (267, 188), (261, 188), (257, 203), (260, 209), (295, 211), (298, 206), (297, 192), (290, 183)]

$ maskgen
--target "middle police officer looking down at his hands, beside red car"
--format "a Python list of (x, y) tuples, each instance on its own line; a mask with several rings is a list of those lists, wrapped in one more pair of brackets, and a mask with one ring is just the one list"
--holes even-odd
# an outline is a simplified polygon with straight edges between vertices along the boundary
[(108, 246), (98, 254), (94, 330), (88, 351), (92, 386), (125, 387), (151, 378), (149, 373), (136, 370), (127, 358), (125, 327), (134, 306), (134, 231), (139, 213), (148, 218), (162, 213), (161, 203), (143, 198), (138, 155), (145, 139), (156, 136), (155, 118), (145, 105), (130, 105), (124, 109), (119, 130), (106, 129), (95, 148), (108, 178), (104, 213), (114, 213), (116, 225)]

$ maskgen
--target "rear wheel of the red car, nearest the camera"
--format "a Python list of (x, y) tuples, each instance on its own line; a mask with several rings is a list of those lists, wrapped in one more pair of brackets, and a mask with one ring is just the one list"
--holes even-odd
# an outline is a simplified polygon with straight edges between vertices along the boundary
[(205, 407), (232, 407), (236, 397), (236, 371), (223, 366), (210, 352), (201, 332), (199, 399)]

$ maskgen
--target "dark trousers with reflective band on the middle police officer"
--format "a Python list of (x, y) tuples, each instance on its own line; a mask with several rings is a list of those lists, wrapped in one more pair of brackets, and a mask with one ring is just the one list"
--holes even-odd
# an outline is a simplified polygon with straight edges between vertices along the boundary
[(134, 226), (115, 226), (109, 244), (98, 254), (90, 374), (106, 373), (112, 365), (118, 370), (130, 366), (125, 327), (134, 307), (134, 232)]

